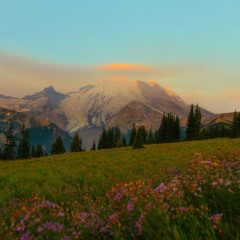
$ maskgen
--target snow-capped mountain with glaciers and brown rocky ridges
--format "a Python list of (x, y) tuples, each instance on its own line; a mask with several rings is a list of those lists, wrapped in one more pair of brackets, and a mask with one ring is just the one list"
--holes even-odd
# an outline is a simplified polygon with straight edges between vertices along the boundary
[[(169, 89), (155, 83), (111, 78), (62, 94), (50, 86), (24, 98), (0, 95), (0, 107), (47, 119), (69, 133), (79, 132), (89, 147), (103, 127), (132, 123), (159, 127), (164, 112), (186, 117), (189, 106)], [(202, 110), (203, 115), (211, 113)]]

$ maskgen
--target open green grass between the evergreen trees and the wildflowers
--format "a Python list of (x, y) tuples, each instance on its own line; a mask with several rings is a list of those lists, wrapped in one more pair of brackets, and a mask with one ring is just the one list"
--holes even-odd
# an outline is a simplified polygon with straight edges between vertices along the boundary
[(240, 139), (214, 139), (55, 155), (0, 162), (0, 208), (14, 199), (39, 195), (56, 202), (104, 197), (119, 182), (163, 181), (166, 169), (187, 167), (195, 153), (203, 157), (236, 152)]

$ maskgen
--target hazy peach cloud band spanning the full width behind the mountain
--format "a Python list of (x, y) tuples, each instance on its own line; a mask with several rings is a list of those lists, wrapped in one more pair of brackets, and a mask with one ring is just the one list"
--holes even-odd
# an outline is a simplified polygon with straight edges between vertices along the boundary
[(0, 94), (22, 97), (52, 85), (67, 93), (96, 81), (153, 80), (177, 93), (186, 103), (198, 103), (213, 112), (240, 106), (240, 73), (212, 66), (139, 65), (66, 66), (43, 63), (0, 52)]

